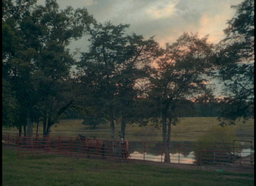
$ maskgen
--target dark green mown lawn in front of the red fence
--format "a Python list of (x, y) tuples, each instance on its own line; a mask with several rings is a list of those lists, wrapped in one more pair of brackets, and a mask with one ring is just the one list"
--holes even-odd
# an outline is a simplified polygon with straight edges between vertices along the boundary
[(173, 169), (70, 157), (17, 159), (3, 148), (3, 178), (7, 185), (254, 185), (254, 174)]

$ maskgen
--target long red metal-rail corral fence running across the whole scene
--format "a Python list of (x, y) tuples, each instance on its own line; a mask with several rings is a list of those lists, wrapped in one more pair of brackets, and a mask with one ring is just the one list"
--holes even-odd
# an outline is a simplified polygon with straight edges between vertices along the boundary
[[(92, 139), (97, 140), (97, 139)], [(129, 141), (126, 152), (120, 141), (106, 140), (104, 148), (96, 144), (88, 145), (76, 137), (47, 136), (24, 137), (19, 134), (3, 133), (4, 143), (17, 145), (17, 157), (42, 155), (67, 155), (70, 157), (106, 158), (106, 159), (137, 159), (164, 162), (166, 153), (170, 154), (170, 162), (177, 164), (221, 165), (236, 167), (254, 167), (254, 146), (252, 142), (237, 144), (216, 143), (215, 146), (197, 146), (191, 143), (150, 143)]]

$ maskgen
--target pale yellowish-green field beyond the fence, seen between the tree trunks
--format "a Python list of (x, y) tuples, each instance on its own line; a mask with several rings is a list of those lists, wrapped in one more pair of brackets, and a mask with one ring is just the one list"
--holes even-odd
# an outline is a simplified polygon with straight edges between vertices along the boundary
[[(51, 128), (51, 135), (74, 136), (84, 134), (87, 137), (98, 137), (101, 139), (110, 139), (109, 125), (100, 125), (92, 129), (82, 125), (83, 120), (61, 120), (60, 123)], [(209, 132), (212, 127), (217, 126), (220, 122), (217, 118), (183, 118), (176, 126), (172, 125), (172, 141), (196, 141), (199, 136)], [(39, 133), (42, 133), (42, 123), (39, 125)], [(253, 141), (254, 144), (254, 120), (246, 123), (237, 121), (236, 125), (230, 127), (230, 130), (236, 132), (238, 140)], [(34, 127), (33, 131), (36, 131)], [(120, 125), (115, 126), (116, 138)], [(18, 132), (16, 128), (4, 128), (3, 132)], [(138, 125), (127, 125), (125, 137), (130, 141), (161, 141), (162, 131), (151, 125), (139, 127)]]

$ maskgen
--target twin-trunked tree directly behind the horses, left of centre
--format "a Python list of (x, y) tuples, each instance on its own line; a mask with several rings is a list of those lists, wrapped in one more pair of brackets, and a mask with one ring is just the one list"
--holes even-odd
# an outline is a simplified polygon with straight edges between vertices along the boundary
[(79, 64), (79, 81), (84, 84), (86, 104), (89, 98), (88, 106), (93, 112), (103, 112), (108, 118), (114, 141), (115, 119), (122, 118), (121, 136), (124, 137), (136, 98), (136, 80), (158, 47), (152, 38), (144, 40), (143, 36), (125, 35), (127, 27), (127, 24), (114, 26), (111, 22), (95, 24), (90, 31), (90, 50), (83, 52)]

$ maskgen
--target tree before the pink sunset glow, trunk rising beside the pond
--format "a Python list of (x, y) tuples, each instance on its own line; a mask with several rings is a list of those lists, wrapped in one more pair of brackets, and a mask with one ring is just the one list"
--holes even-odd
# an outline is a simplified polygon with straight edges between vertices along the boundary
[(205, 78), (211, 70), (211, 52), (212, 44), (207, 42), (207, 37), (184, 33), (172, 45), (166, 44), (163, 56), (150, 72), (148, 97), (155, 102), (161, 116), (163, 143), (166, 144), (164, 162), (170, 162), (171, 124), (175, 125), (179, 108), (186, 100), (211, 94)]

